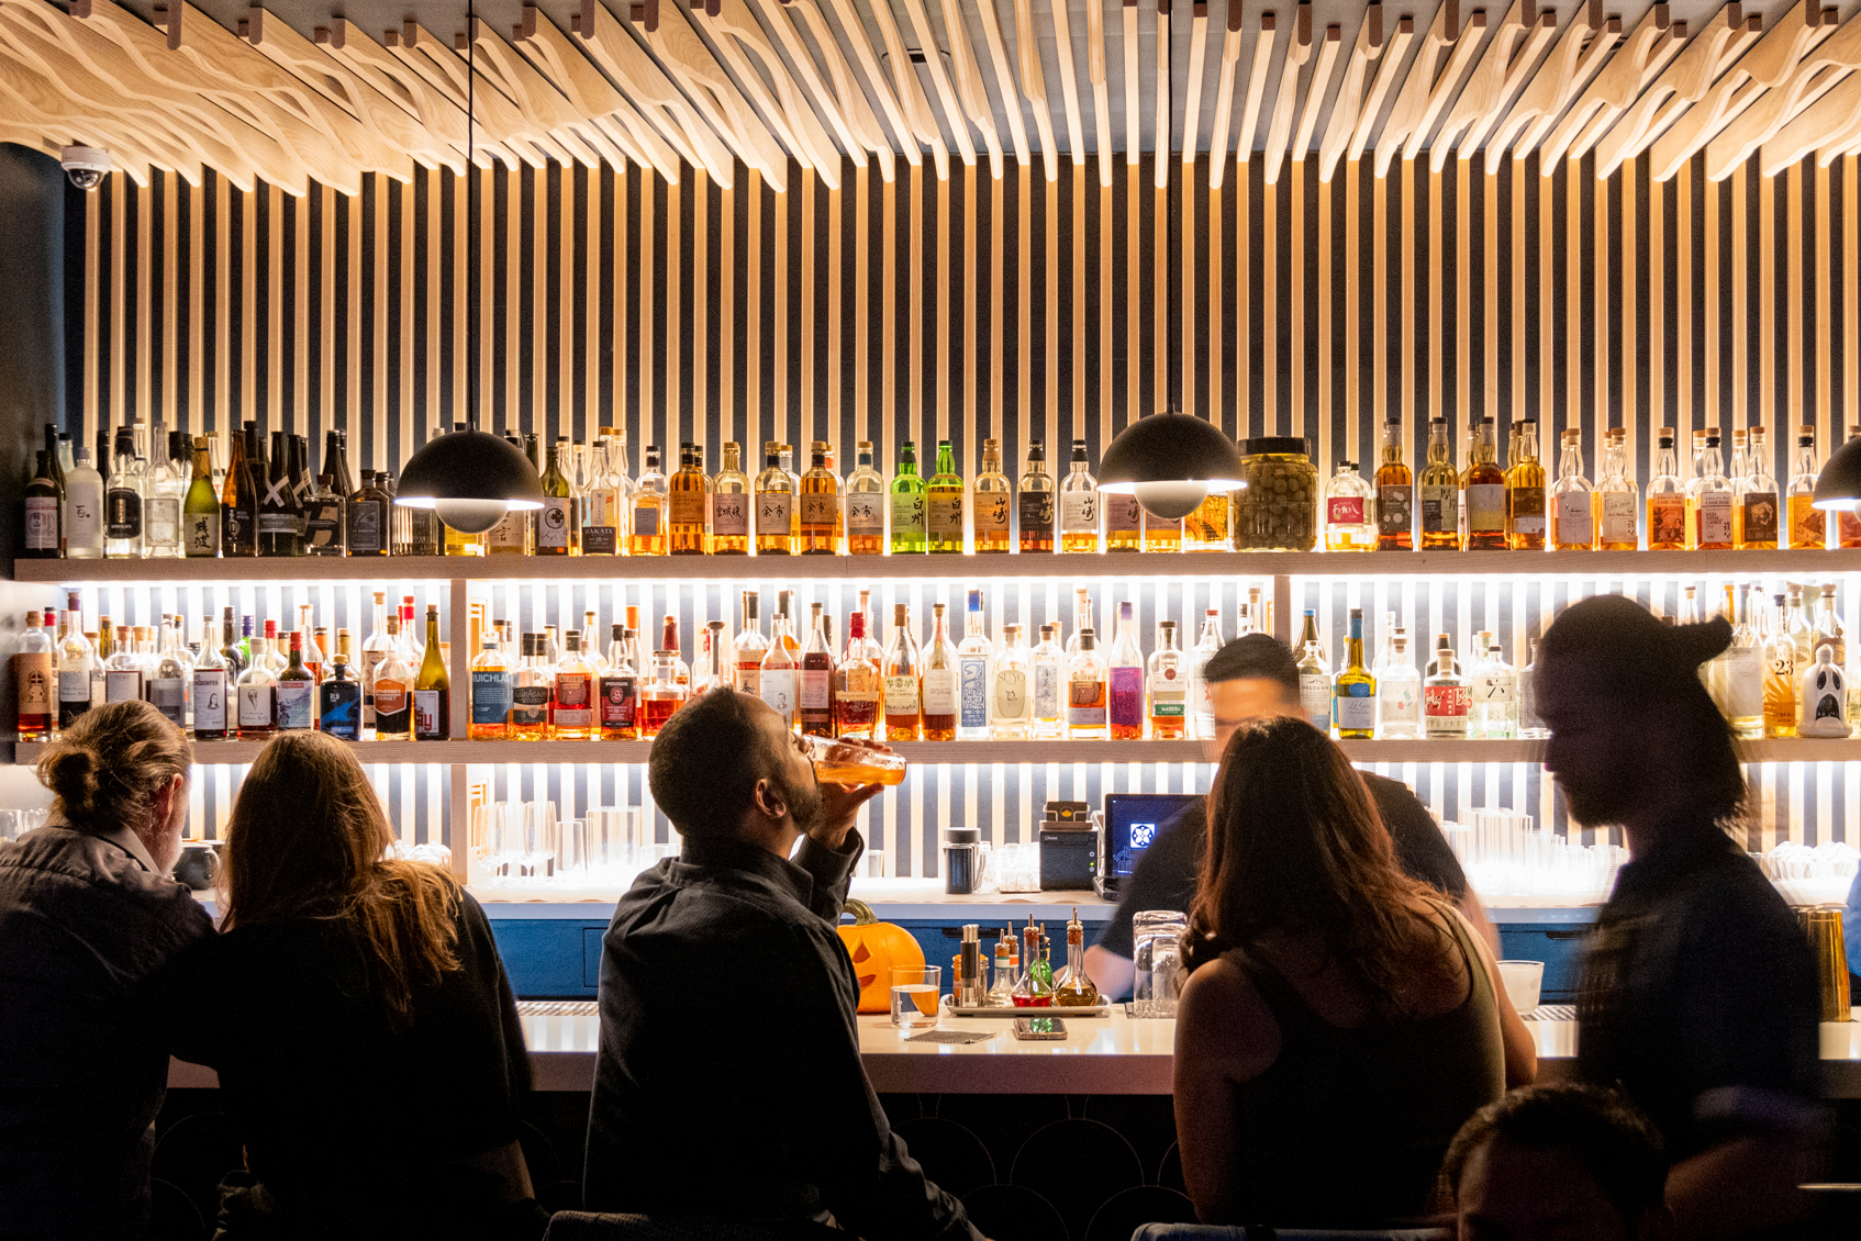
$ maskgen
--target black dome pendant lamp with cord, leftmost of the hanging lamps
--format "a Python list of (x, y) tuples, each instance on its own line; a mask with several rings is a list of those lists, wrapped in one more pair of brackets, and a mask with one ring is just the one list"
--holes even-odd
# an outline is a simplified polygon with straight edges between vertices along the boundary
[[(476, 35), (476, 4), (467, 6), (467, 30)], [(473, 73), (473, 52), (476, 37), (465, 45), (465, 201), (471, 218), (471, 247), (478, 247), (478, 179), (473, 175), (473, 123), (476, 113), (476, 73)], [(471, 259), (476, 270), (476, 259)], [(467, 288), (471, 301), (467, 322), (471, 326), (471, 355), (478, 346), (478, 290)], [(478, 368), (465, 370), (465, 409), (476, 417), (478, 409)], [(515, 445), (489, 435), (476, 428), (450, 432), (437, 439), (428, 439), (413, 454), (400, 473), (400, 486), (395, 489), (395, 502), (406, 508), (432, 508), (439, 519), (463, 534), (484, 534), (512, 508), (542, 508), (543, 480), (536, 476), (530, 458)]]

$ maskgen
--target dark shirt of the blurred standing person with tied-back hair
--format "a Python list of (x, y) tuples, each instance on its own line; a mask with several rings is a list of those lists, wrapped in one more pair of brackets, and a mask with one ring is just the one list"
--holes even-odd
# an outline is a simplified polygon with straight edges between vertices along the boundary
[(1820, 1010), (1790, 906), (1731, 837), (1684, 824), (1621, 869), (1597, 917), (1576, 1062), (1686, 1159), (1725, 1133), (1814, 1122)]

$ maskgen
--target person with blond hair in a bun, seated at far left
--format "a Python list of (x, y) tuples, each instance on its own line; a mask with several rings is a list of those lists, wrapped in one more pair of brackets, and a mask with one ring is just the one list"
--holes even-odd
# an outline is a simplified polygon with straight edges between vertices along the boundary
[(169, 878), (194, 744), (145, 701), (39, 759), (45, 826), (0, 841), (0, 1237), (140, 1235), (167, 1053), (136, 984), (212, 934)]

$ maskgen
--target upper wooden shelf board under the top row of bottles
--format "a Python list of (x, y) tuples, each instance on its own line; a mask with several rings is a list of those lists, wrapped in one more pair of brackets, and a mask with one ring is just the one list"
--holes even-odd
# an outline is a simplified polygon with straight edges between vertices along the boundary
[(17, 560), (20, 582), (378, 582), (378, 580), (971, 580), (1050, 577), (1701, 577), (1861, 573), (1861, 549), (1798, 551), (1439, 551), (1096, 553), (912, 556), (238, 556)]

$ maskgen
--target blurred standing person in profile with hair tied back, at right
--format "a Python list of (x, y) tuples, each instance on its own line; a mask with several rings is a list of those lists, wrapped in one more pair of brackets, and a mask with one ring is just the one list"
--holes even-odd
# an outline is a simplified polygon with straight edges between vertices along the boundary
[(1800, 1219), (1822, 1126), (1814, 960), (1744, 850), (1744, 768), (1699, 681), (1729, 642), (1723, 620), (1667, 627), (1597, 595), (1537, 649), (1545, 770), (1573, 821), (1621, 824), (1630, 854), (1584, 956), (1578, 1068), (1660, 1129), (1682, 1237)]

